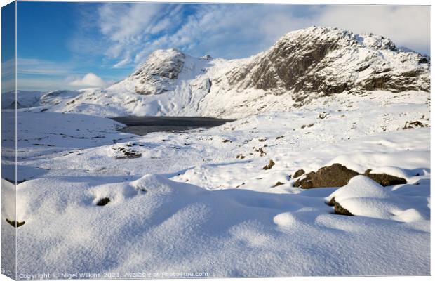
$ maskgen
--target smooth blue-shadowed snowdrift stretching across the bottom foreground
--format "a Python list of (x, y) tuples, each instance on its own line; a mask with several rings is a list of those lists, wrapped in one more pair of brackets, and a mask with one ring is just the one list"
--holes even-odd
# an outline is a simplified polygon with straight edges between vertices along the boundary
[[(41, 178), (18, 186), (28, 202), (18, 206), (26, 221), (17, 228), (18, 272), (32, 272), (36, 264), (47, 272), (109, 270), (123, 277), (138, 268), (208, 272), (213, 277), (427, 272), (425, 260), (413, 259), (417, 252), (427, 253), (422, 248), (427, 230), (415, 233), (387, 221), (389, 228), (380, 236), (376, 220), (329, 214), (321, 189), (307, 196), (210, 191), (155, 174), (133, 181), (102, 180), (83, 178), (71, 188), (71, 178)], [(391, 199), (364, 178), (354, 183), (368, 186), (361, 196)], [(351, 195), (343, 197), (352, 200)], [(102, 198), (110, 201), (96, 205)], [(415, 221), (418, 214), (407, 209), (399, 216)], [(387, 251), (391, 259), (370, 256), (373, 247)], [(370, 259), (355, 260), (355, 251)]]

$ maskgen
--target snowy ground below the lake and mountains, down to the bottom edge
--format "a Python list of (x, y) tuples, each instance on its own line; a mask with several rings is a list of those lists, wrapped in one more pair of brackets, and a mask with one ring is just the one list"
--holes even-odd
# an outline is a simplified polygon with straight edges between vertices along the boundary
[[(342, 93), (146, 136), (120, 133), (111, 119), (39, 111), (18, 113), (18, 274), (430, 274), (430, 128), (403, 129), (430, 126), (429, 93)], [(293, 188), (298, 169), (333, 163), (408, 183), (356, 176), (342, 188)], [(355, 216), (334, 214), (332, 197)], [(15, 230), (11, 211), (4, 205), (4, 233)]]

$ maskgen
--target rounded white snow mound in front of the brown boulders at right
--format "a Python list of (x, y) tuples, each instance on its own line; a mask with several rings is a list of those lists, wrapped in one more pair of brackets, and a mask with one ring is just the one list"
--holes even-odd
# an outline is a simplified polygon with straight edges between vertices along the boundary
[(366, 176), (355, 176), (347, 185), (326, 197), (328, 202), (332, 199), (354, 216), (406, 222), (427, 219), (412, 204)]

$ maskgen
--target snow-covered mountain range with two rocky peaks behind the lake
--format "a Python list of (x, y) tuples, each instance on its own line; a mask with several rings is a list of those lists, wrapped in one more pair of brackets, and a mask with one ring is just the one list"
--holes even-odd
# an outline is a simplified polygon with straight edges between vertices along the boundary
[[(430, 58), (387, 38), (330, 27), (285, 34), (269, 50), (238, 60), (154, 51), (107, 89), (47, 93), (53, 112), (100, 116), (243, 117), (288, 111), (321, 96), (429, 91)], [(51, 100), (55, 100), (53, 103)]]

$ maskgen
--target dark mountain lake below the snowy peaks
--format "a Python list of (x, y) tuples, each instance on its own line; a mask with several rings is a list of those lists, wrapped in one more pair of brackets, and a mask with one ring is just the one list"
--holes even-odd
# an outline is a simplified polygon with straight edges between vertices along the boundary
[(145, 135), (157, 131), (185, 131), (197, 128), (211, 128), (220, 126), (233, 119), (218, 119), (211, 117), (154, 117), (154, 116), (127, 116), (112, 118), (127, 126), (120, 129), (125, 133)]

